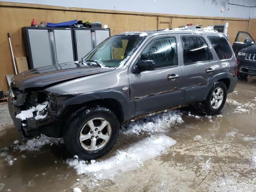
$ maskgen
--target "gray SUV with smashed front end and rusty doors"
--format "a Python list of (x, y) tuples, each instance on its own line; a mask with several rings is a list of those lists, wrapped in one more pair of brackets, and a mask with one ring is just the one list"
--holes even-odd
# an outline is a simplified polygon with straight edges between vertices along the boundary
[(114, 146), (120, 125), (137, 116), (182, 104), (218, 114), (236, 75), (236, 57), (223, 34), (126, 32), (78, 62), (14, 76), (8, 106), (22, 136), (63, 137), (71, 154), (95, 159)]

